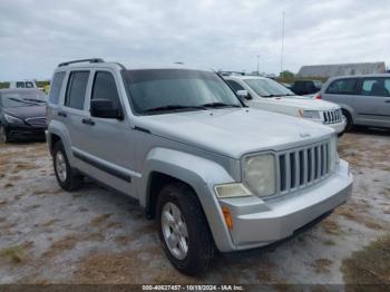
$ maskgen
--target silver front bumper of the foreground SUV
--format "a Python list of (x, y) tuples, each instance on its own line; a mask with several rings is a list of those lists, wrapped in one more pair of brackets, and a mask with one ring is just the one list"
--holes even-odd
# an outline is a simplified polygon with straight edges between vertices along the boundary
[(269, 201), (256, 196), (222, 199), (221, 205), (233, 217), (231, 251), (259, 247), (293, 235), (343, 204), (351, 195), (352, 181), (348, 163), (340, 160), (335, 174), (303, 192)]

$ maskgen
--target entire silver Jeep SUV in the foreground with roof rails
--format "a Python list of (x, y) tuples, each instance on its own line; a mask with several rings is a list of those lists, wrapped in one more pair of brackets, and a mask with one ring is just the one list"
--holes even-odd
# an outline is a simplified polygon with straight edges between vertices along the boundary
[(59, 185), (74, 191), (89, 176), (138, 199), (187, 274), (216, 250), (289, 237), (351, 194), (332, 129), (247, 108), (208, 70), (65, 62), (48, 121)]

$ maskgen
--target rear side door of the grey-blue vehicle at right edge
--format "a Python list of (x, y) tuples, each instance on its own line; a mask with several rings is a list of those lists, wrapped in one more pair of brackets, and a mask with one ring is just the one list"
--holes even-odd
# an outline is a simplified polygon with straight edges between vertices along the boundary
[(367, 77), (353, 99), (357, 124), (390, 127), (390, 77)]

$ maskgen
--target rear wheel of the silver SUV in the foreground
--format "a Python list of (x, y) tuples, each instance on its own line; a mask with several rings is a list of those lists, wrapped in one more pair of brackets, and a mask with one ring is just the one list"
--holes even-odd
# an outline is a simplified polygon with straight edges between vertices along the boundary
[(61, 142), (57, 142), (52, 150), (52, 163), (58, 184), (68, 192), (76, 191), (82, 185), (82, 176), (70, 166)]

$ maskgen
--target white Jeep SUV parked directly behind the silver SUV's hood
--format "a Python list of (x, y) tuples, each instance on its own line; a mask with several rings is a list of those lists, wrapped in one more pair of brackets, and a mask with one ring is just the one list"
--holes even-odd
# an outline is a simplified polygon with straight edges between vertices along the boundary
[(247, 106), (305, 118), (333, 128), (341, 135), (345, 118), (333, 103), (296, 96), (279, 82), (257, 76), (226, 76), (224, 79)]

